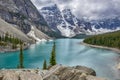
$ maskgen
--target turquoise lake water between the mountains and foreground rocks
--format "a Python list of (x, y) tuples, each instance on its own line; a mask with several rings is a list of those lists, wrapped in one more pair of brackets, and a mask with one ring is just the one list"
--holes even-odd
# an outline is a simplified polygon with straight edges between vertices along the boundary
[[(120, 79), (119, 71), (115, 65), (120, 59), (120, 54), (114, 51), (87, 47), (80, 42), (83, 39), (57, 39), (56, 57), (57, 63), (76, 66), (82, 65), (93, 68), (97, 76), (110, 80)], [(44, 59), (49, 63), (53, 41), (31, 45), (24, 50), (25, 68), (42, 68)], [(19, 52), (0, 54), (0, 68), (16, 68), (19, 64)]]

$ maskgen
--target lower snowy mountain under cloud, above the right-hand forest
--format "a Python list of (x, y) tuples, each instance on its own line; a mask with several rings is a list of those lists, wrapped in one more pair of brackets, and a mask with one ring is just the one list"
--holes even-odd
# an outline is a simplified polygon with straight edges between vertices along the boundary
[(90, 21), (92, 31), (96, 34), (120, 30), (120, 17)]

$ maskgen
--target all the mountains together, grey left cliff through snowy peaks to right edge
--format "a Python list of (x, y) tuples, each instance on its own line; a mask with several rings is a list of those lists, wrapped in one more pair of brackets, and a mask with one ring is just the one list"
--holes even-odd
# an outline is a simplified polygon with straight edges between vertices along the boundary
[(30, 0), (0, 0), (0, 17), (27, 35), (34, 26), (44, 37), (45, 34), (51, 37), (94, 35), (120, 29), (119, 17), (86, 20), (76, 17), (70, 9), (61, 10), (56, 4), (44, 6), (39, 11), (35, 6)]

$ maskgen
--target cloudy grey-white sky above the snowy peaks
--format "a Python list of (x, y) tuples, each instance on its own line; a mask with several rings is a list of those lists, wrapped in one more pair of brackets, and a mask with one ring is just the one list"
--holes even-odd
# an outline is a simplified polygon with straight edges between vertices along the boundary
[(120, 0), (31, 0), (40, 9), (43, 6), (57, 4), (62, 10), (71, 9), (81, 18), (100, 19), (120, 15)]

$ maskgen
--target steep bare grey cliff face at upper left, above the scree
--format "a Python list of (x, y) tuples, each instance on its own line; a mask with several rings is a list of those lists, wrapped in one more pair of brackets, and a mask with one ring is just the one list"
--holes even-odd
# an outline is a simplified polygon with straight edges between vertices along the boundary
[(30, 0), (0, 0), (0, 17), (6, 22), (18, 25), (24, 33), (35, 25), (39, 30), (47, 31), (44, 18)]

